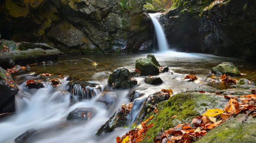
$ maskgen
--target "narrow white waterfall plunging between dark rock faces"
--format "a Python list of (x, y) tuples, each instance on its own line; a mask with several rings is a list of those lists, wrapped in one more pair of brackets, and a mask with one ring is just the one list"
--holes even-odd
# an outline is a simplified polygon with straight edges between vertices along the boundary
[(160, 23), (157, 21), (156, 17), (160, 15), (161, 13), (149, 13), (149, 16), (152, 19), (152, 22), (155, 27), (155, 33), (156, 33), (156, 38), (158, 42), (158, 47), (160, 52), (165, 52), (168, 51), (168, 44), (167, 40), (165, 38), (165, 33), (160, 25)]

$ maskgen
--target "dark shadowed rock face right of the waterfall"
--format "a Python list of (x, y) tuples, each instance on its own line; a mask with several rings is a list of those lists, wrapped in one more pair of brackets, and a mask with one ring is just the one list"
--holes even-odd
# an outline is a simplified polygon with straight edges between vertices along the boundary
[[(169, 44), (177, 50), (256, 60), (256, 1), (183, 0), (162, 17)], [(188, 4), (189, 3), (189, 4)]]

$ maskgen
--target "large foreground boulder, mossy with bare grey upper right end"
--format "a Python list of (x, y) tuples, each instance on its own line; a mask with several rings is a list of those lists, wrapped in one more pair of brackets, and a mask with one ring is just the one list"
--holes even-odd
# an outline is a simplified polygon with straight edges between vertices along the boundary
[[(224, 108), (224, 104), (228, 103), (228, 99), (215, 94), (206, 93), (178, 93), (170, 97), (168, 101), (158, 104), (159, 113), (149, 113), (145, 117), (154, 116), (148, 123), (154, 123), (142, 140), (142, 143), (153, 143), (153, 139), (163, 128), (167, 130), (178, 124), (191, 122), (192, 118), (201, 115), (210, 108)], [(174, 117), (174, 115), (177, 115)], [(174, 118), (172, 118), (174, 117)]]

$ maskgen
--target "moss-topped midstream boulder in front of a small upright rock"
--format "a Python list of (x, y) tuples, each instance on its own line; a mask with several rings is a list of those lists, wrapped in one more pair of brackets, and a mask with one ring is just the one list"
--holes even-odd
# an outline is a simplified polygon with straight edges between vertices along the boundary
[(136, 60), (135, 68), (141, 71), (141, 75), (159, 74), (158, 67), (148, 58)]

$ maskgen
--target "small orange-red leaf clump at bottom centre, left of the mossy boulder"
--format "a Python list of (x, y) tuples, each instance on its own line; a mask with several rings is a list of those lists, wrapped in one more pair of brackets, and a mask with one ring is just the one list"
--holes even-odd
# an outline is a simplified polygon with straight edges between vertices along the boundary
[(144, 139), (146, 131), (149, 130), (154, 123), (146, 125), (146, 123), (151, 120), (153, 116), (149, 117), (146, 121), (142, 122), (135, 129), (128, 131), (125, 135), (120, 138), (116, 138), (116, 143), (138, 143)]

